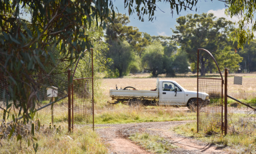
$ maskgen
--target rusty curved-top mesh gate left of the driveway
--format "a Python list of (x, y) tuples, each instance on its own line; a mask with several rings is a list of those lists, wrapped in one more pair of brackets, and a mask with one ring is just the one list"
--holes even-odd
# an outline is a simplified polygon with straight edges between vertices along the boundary
[(94, 130), (93, 48), (79, 57), (69, 81), (69, 131), (74, 125)]

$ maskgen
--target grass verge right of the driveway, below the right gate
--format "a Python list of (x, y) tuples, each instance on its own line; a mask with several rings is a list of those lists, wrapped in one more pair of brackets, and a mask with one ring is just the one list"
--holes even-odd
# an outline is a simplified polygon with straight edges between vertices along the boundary
[[(231, 124), (230, 124), (231, 125)], [(241, 129), (245, 127), (240, 126)], [(207, 143), (215, 143), (222, 147), (231, 147), (232, 153), (255, 153), (256, 152), (256, 131), (237, 131), (230, 132), (226, 136), (220, 134), (206, 135), (205, 133), (197, 133), (197, 123), (186, 123), (179, 125), (173, 129), (176, 133), (188, 137), (195, 137)], [(234, 149), (234, 150), (233, 150)]]

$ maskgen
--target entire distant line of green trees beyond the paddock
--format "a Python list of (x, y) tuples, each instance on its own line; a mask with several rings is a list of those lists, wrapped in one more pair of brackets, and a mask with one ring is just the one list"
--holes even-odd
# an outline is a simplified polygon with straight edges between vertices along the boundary
[[(153, 77), (159, 74), (175, 76), (186, 74), (189, 66), (197, 71), (197, 49), (205, 48), (213, 54), (219, 68), (255, 71), (255, 42), (238, 48), (233, 40), (234, 23), (225, 18), (217, 19), (213, 13), (179, 17), (178, 25), (172, 29), (172, 37), (151, 36), (140, 32), (137, 27), (127, 26), (129, 17), (118, 13), (113, 23), (107, 23), (105, 52), (107, 76), (122, 77), (127, 74), (149, 71)], [(245, 62), (247, 68), (245, 68)], [(201, 76), (216, 72), (217, 67), (206, 52), (199, 53)]]

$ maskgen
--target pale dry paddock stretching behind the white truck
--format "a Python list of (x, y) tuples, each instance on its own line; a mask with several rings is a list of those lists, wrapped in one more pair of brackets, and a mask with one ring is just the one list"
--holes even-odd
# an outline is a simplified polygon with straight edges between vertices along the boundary
[[(104, 109), (107, 106), (107, 101), (113, 102), (109, 97), (109, 90), (118, 88), (125, 88), (126, 86), (133, 86), (139, 90), (155, 89), (157, 78), (148, 78), (149, 74), (135, 74), (125, 78), (104, 78), (101, 80), (101, 95), (96, 97), (96, 108)], [(209, 74), (208, 74), (209, 75)], [(217, 74), (213, 74), (217, 78)], [(235, 85), (233, 76), (243, 76), (243, 85)], [(187, 90), (197, 91), (197, 78), (195, 77), (176, 77), (166, 78), (160, 77), (159, 80), (174, 80), (178, 82), (183, 88)], [(228, 94), (241, 100), (242, 102), (256, 105), (256, 74), (229, 74), (228, 78)], [(228, 99), (229, 104), (235, 101)]]

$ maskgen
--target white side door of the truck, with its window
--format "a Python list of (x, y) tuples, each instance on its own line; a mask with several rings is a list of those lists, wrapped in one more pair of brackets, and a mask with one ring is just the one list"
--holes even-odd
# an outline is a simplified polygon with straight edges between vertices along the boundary
[[(185, 102), (185, 92), (179, 88), (173, 82), (162, 82), (162, 85), (159, 85), (160, 98), (159, 105), (184, 105)], [(175, 92), (177, 88), (177, 93)]]

